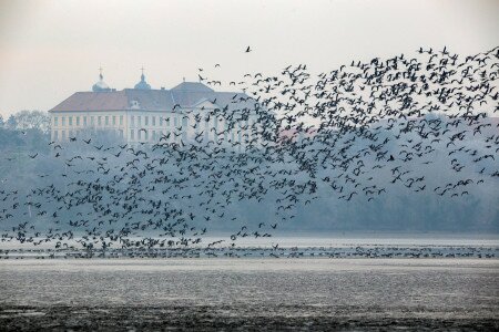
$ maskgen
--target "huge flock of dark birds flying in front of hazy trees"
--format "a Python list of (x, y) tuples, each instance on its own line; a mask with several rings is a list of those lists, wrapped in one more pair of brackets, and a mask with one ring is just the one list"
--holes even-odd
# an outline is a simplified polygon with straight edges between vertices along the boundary
[[(320, 193), (366, 204), (390, 186), (465, 197), (499, 178), (498, 59), (499, 48), (465, 58), (421, 48), (415, 58), (353, 61), (317, 76), (287, 66), (275, 76), (246, 74), (247, 95), (197, 115), (227, 123), (207, 142), (172, 143), (182, 127), (153, 144), (50, 142), (49, 154), (24, 160), (39, 169), (32, 188), (1, 179), (1, 240), (86, 252), (214, 250), (272, 237)], [(203, 75), (208, 85), (220, 82)], [(226, 138), (234, 129), (244, 142)], [(438, 158), (457, 180), (431, 176)], [(269, 220), (231, 212), (269, 199)], [(233, 231), (203, 241), (221, 222)]]

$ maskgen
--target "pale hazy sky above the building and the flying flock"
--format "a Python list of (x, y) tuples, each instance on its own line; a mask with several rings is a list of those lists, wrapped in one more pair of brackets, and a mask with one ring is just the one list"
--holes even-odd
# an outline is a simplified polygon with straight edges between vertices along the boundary
[(499, 45), (498, 18), (497, 0), (0, 0), (0, 114), (48, 111), (89, 91), (101, 65), (111, 87), (133, 87), (144, 65), (153, 89), (169, 89), (198, 68), (228, 82), (420, 45), (472, 54)]

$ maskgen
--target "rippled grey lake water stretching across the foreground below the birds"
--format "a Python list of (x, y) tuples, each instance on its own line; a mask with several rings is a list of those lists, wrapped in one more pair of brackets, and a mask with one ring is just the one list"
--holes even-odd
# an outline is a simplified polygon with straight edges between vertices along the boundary
[(3, 259), (0, 293), (6, 331), (499, 329), (497, 257)]

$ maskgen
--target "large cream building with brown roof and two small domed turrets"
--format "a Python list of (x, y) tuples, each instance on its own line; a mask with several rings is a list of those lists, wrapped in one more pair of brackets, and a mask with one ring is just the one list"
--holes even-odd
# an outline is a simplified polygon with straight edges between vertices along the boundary
[[(51, 138), (64, 142), (89, 133), (113, 132), (126, 143), (210, 139), (257, 143), (256, 103), (244, 93), (215, 92), (197, 82), (151, 89), (142, 73), (134, 89), (116, 91), (102, 73), (92, 91), (77, 92), (49, 111)], [(237, 143), (236, 143), (237, 144)]]

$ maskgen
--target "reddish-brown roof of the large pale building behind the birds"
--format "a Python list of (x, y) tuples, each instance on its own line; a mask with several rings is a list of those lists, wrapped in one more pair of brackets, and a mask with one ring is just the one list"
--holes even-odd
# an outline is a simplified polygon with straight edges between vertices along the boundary
[(196, 107), (202, 101), (228, 110), (253, 108), (255, 101), (244, 93), (215, 92), (202, 83), (183, 82), (171, 90), (139, 90), (77, 92), (49, 112), (91, 111), (172, 111)]

